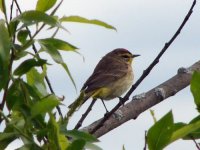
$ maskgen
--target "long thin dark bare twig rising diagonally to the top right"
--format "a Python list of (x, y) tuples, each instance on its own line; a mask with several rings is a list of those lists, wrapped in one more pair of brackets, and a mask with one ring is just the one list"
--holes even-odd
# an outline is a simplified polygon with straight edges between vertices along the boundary
[(183, 22), (181, 23), (178, 30), (175, 32), (175, 34), (172, 36), (172, 38), (164, 45), (160, 53), (157, 55), (157, 57), (153, 60), (153, 62), (148, 66), (146, 70), (144, 70), (141, 77), (136, 81), (136, 83), (131, 87), (131, 89), (127, 92), (127, 94), (121, 99), (121, 101), (109, 112), (106, 113), (104, 118), (97, 124), (96, 127), (93, 128), (93, 130), (90, 132), (91, 134), (95, 133), (99, 128), (101, 128), (106, 120), (121, 106), (123, 105), (127, 100), (129, 100), (130, 95), (133, 93), (133, 91), (138, 87), (138, 85), (146, 78), (146, 76), (151, 72), (153, 67), (159, 62), (161, 56), (165, 53), (165, 51), (169, 48), (169, 46), (173, 43), (173, 41), (177, 38), (177, 36), (180, 34), (181, 30), (183, 29), (184, 25), (190, 18), (193, 8), (196, 4), (196, 0), (193, 1), (193, 4), (191, 8), (189, 9), (187, 15), (185, 16)]

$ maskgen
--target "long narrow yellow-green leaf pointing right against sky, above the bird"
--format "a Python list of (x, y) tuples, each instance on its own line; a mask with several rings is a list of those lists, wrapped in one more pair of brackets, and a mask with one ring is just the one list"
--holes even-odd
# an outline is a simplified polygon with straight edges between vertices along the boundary
[(92, 19), (92, 20), (89, 20), (89, 19), (86, 19), (86, 18), (83, 18), (83, 17), (80, 17), (80, 16), (69, 16), (69, 17), (62, 17), (60, 19), (61, 22), (77, 22), (77, 23), (87, 23), (87, 24), (93, 24), (93, 25), (98, 25), (98, 26), (102, 26), (102, 27), (105, 27), (105, 28), (108, 28), (108, 29), (113, 29), (113, 30), (116, 30), (115, 27), (103, 22), (103, 21), (100, 21), (100, 20), (96, 20), (96, 19)]

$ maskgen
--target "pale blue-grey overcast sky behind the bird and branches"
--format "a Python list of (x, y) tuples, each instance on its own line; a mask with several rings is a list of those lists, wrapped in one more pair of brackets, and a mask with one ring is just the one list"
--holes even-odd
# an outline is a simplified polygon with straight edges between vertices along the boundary
[[(33, 9), (36, 0), (18, 0), (22, 10)], [(82, 56), (75, 53), (62, 53), (65, 62), (76, 81), (78, 90), (92, 73), (98, 61), (115, 48), (126, 48), (134, 54), (140, 54), (134, 60), (135, 78), (152, 62), (171, 36), (175, 33), (188, 12), (192, 0), (65, 0), (59, 16), (80, 15), (88, 19), (99, 19), (117, 28), (117, 32), (102, 27), (68, 23), (64, 26), (70, 31), (59, 32), (59, 38), (80, 48)], [(200, 56), (200, 4), (197, 3), (194, 13), (159, 64), (141, 83), (134, 94), (140, 94), (168, 80), (177, 73), (178, 68), (188, 67), (199, 60)], [(42, 37), (45, 37), (44, 34)], [(39, 37), (38, 37), (39, 38)], [(77, 97), (73, 85), (65, 71), (58, 66), (49, 68), (49, 77), (57, 95), (65, 95), (64, 104), (70, 104)], [(133, 95), (134, 95), (133, 94)], [(118, 99), (106, 102), (109, 109)], [(85, 103), (72, 118), (70, 128), (81, 117), (89, 102)], [(62, 106), (63, 112), (67, 108)], [(152, 108), (157, 119), (172, 110), (175, 122), (189, 122), (198, 113), (195, 110), (190, 89), (186, 88), (172, 98)], [(92, 123), (105, 113), (101, 102), (97, 102), (84, 122), (84, 126)], [(100, 138), (98, 144), (104, 150), (141, 150), (144, 147), (144, 132), (153, 124), (149, 111), (141, 114), (136, 120), (131, 120)], [(20, 146), (13, 143), (7, 150)], [(179, 140), (168, 146), (166, 150), (195, 149), (192, 141)]]

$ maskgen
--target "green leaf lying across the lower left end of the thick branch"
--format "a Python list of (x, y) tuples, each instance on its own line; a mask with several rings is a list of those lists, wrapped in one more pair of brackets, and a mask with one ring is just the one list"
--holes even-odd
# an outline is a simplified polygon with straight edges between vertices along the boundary
[(98, 142), (99, 140), (92, 136), (89, 133), (78, 131), (78, 130), (68, 130), (65, 132), (65, 135), (73, 138), (73, 139), (83, 139), (86, 142)]

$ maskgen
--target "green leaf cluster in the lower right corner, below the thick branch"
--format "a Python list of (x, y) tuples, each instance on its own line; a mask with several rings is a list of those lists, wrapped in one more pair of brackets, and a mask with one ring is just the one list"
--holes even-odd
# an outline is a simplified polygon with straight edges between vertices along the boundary
[[(200, 73), (194, 72), (191, 80), (191, 92), (199, 112)], [(175, 123), (172, 111), (168, 112), (148, 130), (147, 143), (150, 150), (162, 150), (179, 139), (195, 140), (200, 138), (200, 115), (189, 123)]]

